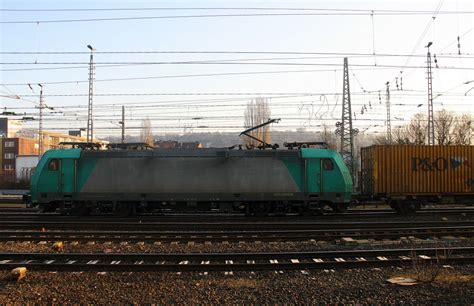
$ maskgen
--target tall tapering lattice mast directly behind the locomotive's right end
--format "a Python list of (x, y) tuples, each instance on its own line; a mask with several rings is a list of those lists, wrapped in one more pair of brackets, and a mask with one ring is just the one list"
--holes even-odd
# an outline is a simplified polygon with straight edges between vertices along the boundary
[(354, 136), (359, 132), (352, 128), (351, 91), (349, 88), (349, 66), (344, 58), (344, 76), (342, 91), (342, 121), (336, 123), (336, 134), (341, 135), (341, 156), (355, 179), (354, 169)]

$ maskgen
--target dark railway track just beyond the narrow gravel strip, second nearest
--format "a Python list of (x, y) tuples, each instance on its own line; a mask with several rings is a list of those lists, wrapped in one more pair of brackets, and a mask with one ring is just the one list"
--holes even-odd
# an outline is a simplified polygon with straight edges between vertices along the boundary
[(332, 241), (353, 239), (397, 239), (414, 236), (473, 237), (474, 226), (331, 228), (271, 231), (0, 231), (0, 241), (108, 241), (108, 242), (239, 242), (239, 241)]

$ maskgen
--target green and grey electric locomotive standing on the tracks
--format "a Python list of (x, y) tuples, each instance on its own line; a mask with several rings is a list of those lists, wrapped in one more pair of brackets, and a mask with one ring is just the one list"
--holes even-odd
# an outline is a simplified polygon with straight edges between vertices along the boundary
[(344, 210), (352, 180), (330, 149), (50, 150), (29, 201), (44, 211), (226, 211), (247, 215)]

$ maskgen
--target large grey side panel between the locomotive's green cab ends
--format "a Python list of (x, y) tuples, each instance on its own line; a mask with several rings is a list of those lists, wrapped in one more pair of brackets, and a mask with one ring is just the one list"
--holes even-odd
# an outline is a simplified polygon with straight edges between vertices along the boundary
[[(229, 156), (229, 152), (225, 154), (226, 157), (218, 157), (222, 156), (222, 153), (217, 151), (204, 152), (199, 157), (192, 154), (166, 156), (150, 153), (143, 152), (141, 156), (136, 157), (122, 155), (116, 158), (96, 155), (98, 157), (96, 166), (81, 192), (147, 194), (300, 192), (285, 163), (269, 154), (255, 158), (245, 155), (232, 157)], [(92, 157), (94, 154), (90, 155)], [(142, 157), (143, 155), (148, 156)], [(297, 159), (295, 154), (291, 154), (291, 157)]]

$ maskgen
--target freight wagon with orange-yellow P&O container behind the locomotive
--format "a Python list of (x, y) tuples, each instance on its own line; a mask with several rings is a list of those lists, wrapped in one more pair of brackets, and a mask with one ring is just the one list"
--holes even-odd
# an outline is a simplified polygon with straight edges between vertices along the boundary
[(474, 202), (474, 146), (376, 145), (361, 149), (360, 193), (400, 212)]

